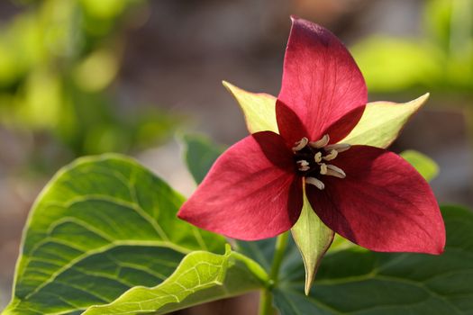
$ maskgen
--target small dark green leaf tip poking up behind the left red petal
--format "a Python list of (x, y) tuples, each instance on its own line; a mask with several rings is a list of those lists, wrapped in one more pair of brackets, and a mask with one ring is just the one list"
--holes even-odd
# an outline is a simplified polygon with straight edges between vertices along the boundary
[(223, 146), (217, 146), (202, 135), (186, 134), (184, 157), (190, 174), (200, 184), (217, 157), (223, 153)]

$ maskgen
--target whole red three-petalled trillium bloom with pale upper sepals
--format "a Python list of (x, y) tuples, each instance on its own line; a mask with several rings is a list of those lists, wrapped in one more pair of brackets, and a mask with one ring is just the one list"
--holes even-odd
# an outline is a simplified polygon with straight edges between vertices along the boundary
[[(330, 31), (297, 18), (277, 99), (245, 95), (241, 102), (255, 100), (245, 112), (252, 134), (215, 161), (179, 218), (231, 238), (271, 238), (295, 225), (305, 193), (328, 228), (362, 247), (442, 252), (444, 224), (429, 184), (385, 149), (408, 118), (396, 122), (400, 116), (389, 111), (409, 108), (410, 115), (426, 97), (367, 104), (363, 76), (348, 50)], [(261, 118), (263, 99), (273, 100), (272, 128), (264, 128), (271, 117)]]

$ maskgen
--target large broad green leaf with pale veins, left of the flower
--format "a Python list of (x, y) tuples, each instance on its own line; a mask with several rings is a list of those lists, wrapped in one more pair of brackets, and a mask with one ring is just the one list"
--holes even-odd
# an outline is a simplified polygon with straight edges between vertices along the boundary
[(176, 217), (183, 197), (134, 160), (79, 158), (32, 207), (5, 314), (71, 314), (164, 281), (224, 238)]

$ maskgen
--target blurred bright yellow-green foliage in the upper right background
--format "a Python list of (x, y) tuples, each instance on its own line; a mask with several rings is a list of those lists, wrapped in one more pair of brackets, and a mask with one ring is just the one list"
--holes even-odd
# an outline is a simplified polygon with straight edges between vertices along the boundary
[(370, 91), (473, 94), (473, 1), (425, 1), (422, 35), (372, 36), (352, 47)]

